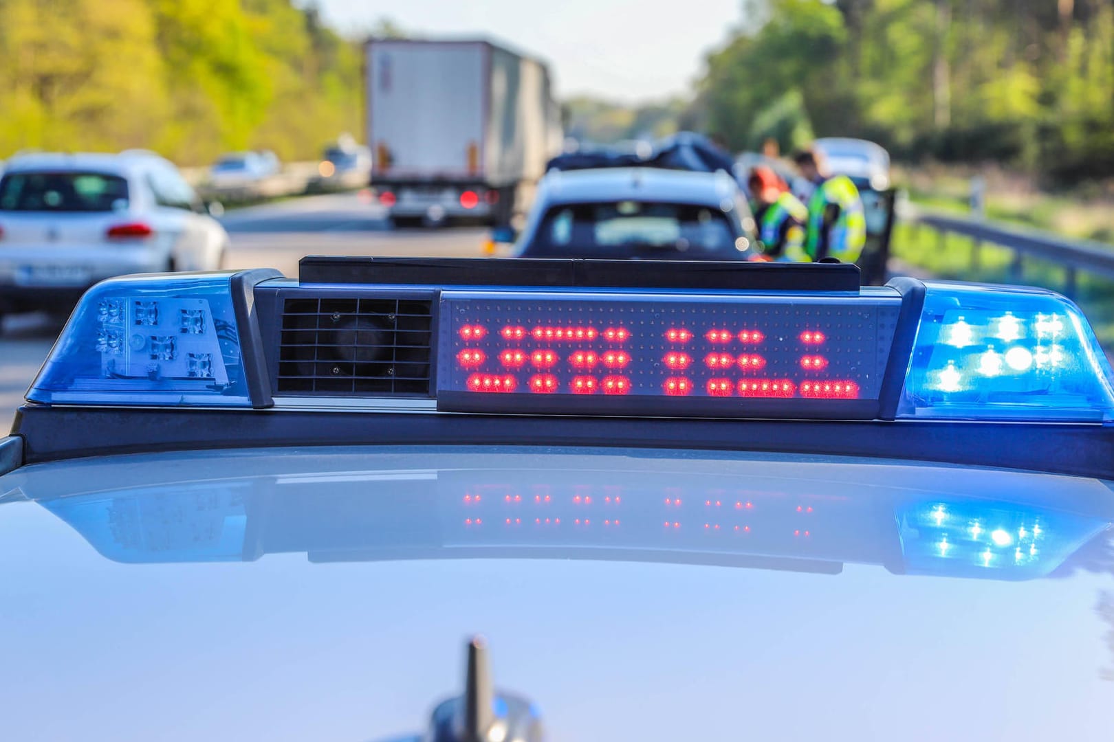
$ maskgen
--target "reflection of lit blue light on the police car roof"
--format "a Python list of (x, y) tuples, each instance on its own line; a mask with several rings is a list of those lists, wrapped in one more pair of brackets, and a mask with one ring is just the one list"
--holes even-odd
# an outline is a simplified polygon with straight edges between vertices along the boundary
[(908, 574), (1030, 580), (1107, 527), (1098, 517), (1030, 505), (959, 501), (897, 511)]

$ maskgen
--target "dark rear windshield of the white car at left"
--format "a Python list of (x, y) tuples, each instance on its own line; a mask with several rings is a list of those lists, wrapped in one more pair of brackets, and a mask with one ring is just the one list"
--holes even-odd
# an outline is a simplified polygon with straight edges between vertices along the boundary
[(102, 172), (9, 172), (0, 178), (3, 211), (115, 211), (128, 205), (128, 184)]

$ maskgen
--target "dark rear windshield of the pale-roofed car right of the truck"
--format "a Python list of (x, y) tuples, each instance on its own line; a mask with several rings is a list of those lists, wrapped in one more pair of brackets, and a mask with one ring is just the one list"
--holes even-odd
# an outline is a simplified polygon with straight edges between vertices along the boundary
[(529, 255), (731, 259), (736, 230), (719, 208), (617, 201), (551, 208)]

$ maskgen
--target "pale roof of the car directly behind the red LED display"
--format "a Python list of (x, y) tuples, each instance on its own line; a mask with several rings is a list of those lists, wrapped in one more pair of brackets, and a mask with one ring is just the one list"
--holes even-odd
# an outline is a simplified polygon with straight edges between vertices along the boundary
[(543, 180), (540, 198), (550, 206), (637, 200), (719, 208), (737, 192), (734, 179), (725, 172), (599, 168), (551, 170)]

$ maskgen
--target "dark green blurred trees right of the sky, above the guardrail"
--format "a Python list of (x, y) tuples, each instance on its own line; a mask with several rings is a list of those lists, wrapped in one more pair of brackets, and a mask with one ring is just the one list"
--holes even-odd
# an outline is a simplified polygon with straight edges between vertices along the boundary
[(749, 0), (745, 12), (688, 115), (734, 148), (780, 132), (785, 107), (818, 136), (906, 158), (997, 160), (1058, 184), (1114, 172), (1114, 0)]

